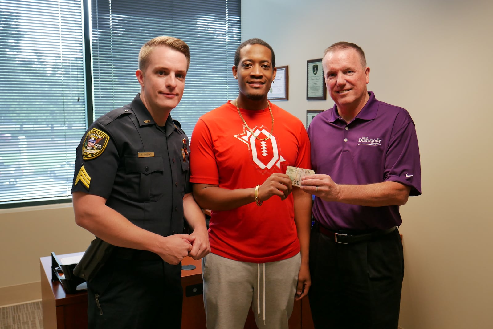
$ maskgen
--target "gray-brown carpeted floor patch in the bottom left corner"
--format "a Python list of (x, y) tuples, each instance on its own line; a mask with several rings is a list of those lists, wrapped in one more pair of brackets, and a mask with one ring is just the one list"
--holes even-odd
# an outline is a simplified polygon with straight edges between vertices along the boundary
[(0, 329), (42, 329), (41, 301), (0, 307)]

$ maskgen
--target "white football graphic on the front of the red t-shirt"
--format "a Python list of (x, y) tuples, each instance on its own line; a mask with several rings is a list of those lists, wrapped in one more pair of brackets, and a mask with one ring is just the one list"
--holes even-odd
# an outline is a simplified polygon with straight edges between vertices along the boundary
[[(269, 132), (265, 130), (264, 126), (260, 128), (255, 126), (252, 131), (259, 138), (265, 138), (269, 135)], [(248, 145), (252, 160), (260, 169), (270, 169), (273, 165), (281, 168), (281, 163), (286, 161), (279, 154), (277, 139), (274, 135), (267, 140), (258, 140), (251, 132), (245, 131), (244, 126), (243, 133), (234, 136)]]

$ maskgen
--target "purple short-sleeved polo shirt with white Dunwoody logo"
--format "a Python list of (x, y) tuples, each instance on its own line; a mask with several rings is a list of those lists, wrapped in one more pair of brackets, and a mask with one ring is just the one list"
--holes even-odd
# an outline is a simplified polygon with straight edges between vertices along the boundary
[[(413, 119), (402, 107), (370, 99), (351, 123), (337, 105), (310, 123), (312, 168), (337, 184), (399, 182), (421, 195), (421, 165)], [(315, 198), (313, 214), (334, 230), (385, 230), (402, 223), (399, 206), (368, 207)]]

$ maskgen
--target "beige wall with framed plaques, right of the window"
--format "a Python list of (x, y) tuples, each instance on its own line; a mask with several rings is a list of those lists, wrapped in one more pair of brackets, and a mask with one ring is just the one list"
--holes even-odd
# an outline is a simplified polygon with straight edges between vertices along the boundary
[(406, 272), (400, 326), (493, 326), (493, 2), (248, 0), (242, 40), (259, 37), (289, 66), (289, 101), (306, 122), (306, 61), (337, 41), (360, 45), (368, 90), (416, 123), (423, 195), (401, 207)]

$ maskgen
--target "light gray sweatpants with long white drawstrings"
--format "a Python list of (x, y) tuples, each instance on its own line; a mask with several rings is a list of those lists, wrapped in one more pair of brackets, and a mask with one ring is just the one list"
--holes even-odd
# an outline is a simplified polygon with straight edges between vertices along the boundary
[(243, 329), (248, 308), (261, 329), (287, 329), (301, 257), (265, 264), (210, 253), (202, 259), (208, 329)]

